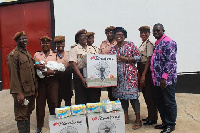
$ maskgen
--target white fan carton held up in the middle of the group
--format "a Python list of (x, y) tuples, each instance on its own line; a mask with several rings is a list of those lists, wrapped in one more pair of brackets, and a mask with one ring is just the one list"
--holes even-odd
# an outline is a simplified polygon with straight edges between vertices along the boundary
[(116, 55), (86, 55), (83, 76), (87, 87), (117, 86)]

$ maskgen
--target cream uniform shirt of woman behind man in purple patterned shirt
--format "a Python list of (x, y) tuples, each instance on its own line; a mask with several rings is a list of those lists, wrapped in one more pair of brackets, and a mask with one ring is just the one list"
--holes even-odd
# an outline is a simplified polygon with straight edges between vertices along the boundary
[(153, 54), (153, 43), (147, 39), (144, 43), (142, 43), (139, 47), (141, 59), (140, 62), (147, 62), (147, 57), (152, 56)]

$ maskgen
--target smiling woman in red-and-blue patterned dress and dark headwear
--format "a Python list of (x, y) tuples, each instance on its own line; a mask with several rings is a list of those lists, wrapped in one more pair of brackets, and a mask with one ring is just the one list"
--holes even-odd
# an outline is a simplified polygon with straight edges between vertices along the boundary
[(133, 42), (125, 41), (127, 32), (122, 27), (116, 27), (113, 35), (117, 44), (110, 49), (110, 54), (117, 56), (118, 85), (113, 89), (113, 96), (119, 98), (125, 114), (125, 123), (129, 123), (129, 101), (135, 111), (134, 130), (142, 126), (140, 120), (140, 103), (138, 100), (137, 68), (135, 63), (140, 59), (140, 53)]

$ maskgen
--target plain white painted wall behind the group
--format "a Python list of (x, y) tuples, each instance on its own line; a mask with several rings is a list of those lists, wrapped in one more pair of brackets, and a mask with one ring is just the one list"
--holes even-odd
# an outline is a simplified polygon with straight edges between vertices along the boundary
[[(4, 0), (0, 0), (2, 2)], [(140, 45), (138, 28), (162, 23), (178, 44), (178, 72), (200, 71), (200, 0), (54, 0), (56, 35), (66, 36), (66, 50), (80, 29), (95, 32), (95, 44), (106, 39), (106, 27), (122, 26), (126, 40)], [(155, 41), (151, 35), (150, 39)]]

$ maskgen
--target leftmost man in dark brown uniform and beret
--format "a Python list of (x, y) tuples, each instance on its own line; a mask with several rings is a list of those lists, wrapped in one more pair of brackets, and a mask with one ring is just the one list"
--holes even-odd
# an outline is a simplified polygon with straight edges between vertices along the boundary
[[(15, 120), (19, 133), (30, 133), (30, 115), (35, 108), (36, 78), (34, 61), (25, 49), (27, 37), (25, 32), (14, 36), (17, 47), (7, 56), (10, 76), (10, 93), (14, 99)], [(28, 105), (24, 102), (28, 100)]]

